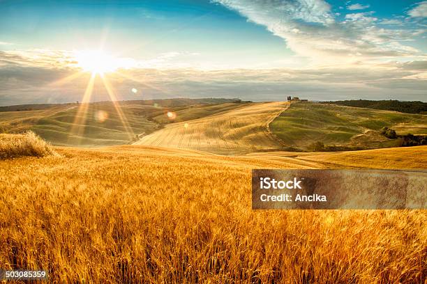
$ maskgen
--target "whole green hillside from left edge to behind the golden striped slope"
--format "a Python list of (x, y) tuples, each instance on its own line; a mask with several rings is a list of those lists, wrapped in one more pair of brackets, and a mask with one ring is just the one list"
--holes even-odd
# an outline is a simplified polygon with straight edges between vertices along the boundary
[[(167, 99), (90, 104), (41, 104), (0, 108), (0, 132), (32, 130), (53, 145), (97, 147), (132, 143), (164, 124), (240, 107), (239, 100)], [(19, 111), (17, 111), (19, 109)], [(23, 109), (31, 109), (24, 111)], [(167, 113), (174, 113), (174, 120)]]

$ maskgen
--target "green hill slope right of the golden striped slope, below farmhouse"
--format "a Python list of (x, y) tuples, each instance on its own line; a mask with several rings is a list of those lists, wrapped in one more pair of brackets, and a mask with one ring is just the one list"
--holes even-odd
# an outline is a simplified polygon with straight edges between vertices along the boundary
[(295, 148), (311, 150), (313, 143), (359, 148), (396, 146), (380, 134), (382, 127), (398, 134), (427, 134), (427, 116), (311, 102), (292, 103), (271, 123), (271, 131)]

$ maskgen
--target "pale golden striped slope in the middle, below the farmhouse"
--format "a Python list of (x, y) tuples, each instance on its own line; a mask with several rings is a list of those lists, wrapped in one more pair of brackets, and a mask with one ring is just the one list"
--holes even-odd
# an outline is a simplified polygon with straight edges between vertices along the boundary
[(288, 106), (287, 102), (245, 104), (206, 118), (167, 125), (135, 144), (223, 154), (277, 150), (280, 141), (267, 125)]

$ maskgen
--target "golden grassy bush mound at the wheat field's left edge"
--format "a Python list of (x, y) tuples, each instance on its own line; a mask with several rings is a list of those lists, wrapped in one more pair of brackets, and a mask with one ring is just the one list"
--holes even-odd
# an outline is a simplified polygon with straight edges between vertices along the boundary
[(48, 155), (58, 154), (49, 143), (32, 131), (25, 134), (0, 134), (0, 159), (23, 156), (44, 157)]

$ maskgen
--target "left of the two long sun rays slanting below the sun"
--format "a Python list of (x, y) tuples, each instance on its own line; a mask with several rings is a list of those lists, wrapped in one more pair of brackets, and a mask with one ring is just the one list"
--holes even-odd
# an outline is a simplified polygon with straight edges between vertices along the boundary
[(87, 88), (84, 91), (83, 100), (80, 104), (79, 108), (77, 109), (77, 113), (75, 114), (73, 126), (70, 130), (70, 135), (68, 136), (68, 140), (70, 139), (78, 139), (77, 144), (82, 141), (83, 134), (84, 134), (84, 123), (86, 123), (87, 120), (87, 109), (89, 108), (89, 102), (91, 100), (91, 96), (93, 93), (93, 85), (95, 84), (95, 77), (96, 74), (93, 73), (91, 75), (91, 79), (89, 79), (89, 83), (87, 84)]

